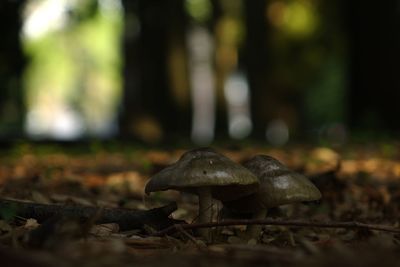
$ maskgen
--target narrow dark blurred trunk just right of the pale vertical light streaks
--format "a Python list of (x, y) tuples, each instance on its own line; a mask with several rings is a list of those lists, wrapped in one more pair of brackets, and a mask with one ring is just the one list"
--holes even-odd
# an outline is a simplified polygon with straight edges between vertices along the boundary
[(244, 1), (247, 43), (244, 63), (251, 91), (253, 132), (256, 137), (265, 136), (267, 116), (266, 90), (268, 67), (268, 25), (265, 20), (267, 0)]

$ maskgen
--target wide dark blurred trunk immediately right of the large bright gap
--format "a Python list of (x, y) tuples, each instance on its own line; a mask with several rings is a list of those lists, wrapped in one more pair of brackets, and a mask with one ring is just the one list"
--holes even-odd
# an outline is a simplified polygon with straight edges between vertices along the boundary
[(141, 127), (140, 121), (143, 120), (159, 127), (162, 135), (171, 133), (179, 121), (167, 72), (168, 31), (171, 24), (168, 15), (175, 4), (164, 0), (125, 0), (123, 5), (125, 85), (121, 135), (137, 135), (137, 131), (141, 131), (137, 127)]

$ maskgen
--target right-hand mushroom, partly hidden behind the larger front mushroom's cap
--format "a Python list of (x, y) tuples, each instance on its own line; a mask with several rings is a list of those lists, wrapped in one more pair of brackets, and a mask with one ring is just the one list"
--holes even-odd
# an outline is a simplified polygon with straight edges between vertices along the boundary
[[(321, 198), (321, 192), (307, 177), (291, 171), (273, 157), (257, 155), (245, 162), (244, 166), (259, 178), (260, 187), (254, 194), (223, 201), (229, 211), (252, 213), (254, 219), (263, 219), (269, 208)], [(250, 225), (247, 234), (257, 237), (261, 228), (260, 225)]]

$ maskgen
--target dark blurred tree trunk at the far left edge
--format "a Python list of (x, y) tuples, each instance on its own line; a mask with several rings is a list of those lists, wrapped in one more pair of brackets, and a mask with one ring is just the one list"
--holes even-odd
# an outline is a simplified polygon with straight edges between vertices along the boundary
[(22, 71), (25, 57), (20, 42), (21, 10), (25, 1), (0, 3), (0, 138), (23, 135)]

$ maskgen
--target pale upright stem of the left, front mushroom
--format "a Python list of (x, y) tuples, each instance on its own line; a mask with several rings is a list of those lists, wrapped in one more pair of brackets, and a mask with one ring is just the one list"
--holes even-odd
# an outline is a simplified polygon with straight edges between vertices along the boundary
[[(212, 197), (209, 187), (200, 187), (197, 189), (199, 196), (199, 222), (209, 223), (212, 220)], [(210, 231), (208, 228), (198, 229), (198, 233), (207, 241), (210, 240)]]

